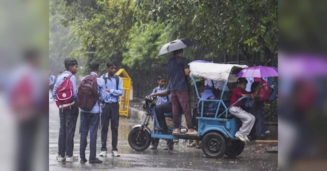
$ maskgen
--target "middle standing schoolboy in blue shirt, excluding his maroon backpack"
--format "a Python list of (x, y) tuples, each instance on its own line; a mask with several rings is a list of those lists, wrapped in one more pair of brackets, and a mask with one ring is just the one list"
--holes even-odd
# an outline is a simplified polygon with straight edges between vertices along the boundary
[[(99, 99), (95, 103), (94, 107), (91, 111), (85, 111), (81, 109), (80, 114), (80, 158), (81, 163), (87, 162), (85, 158), (85, 149), (87, 145), (87, 135), (90, 131), (90, 158), (89, 163), (102, 163), (101, 160), (96, 158), (96, 135), (97, 135), (97, 128), (99, 126), (100, 120), (100, 113), (102, 113), (102, 109), (100, 107), (100, 103), (107, 97), (106, 93), (106, 85), (105, 81), (98, 76), (100, 64), (99, 62), (92, 61), (89, 64), (90, 68), (90, 75), (96, 76), (96, 83), (97, 83), (97, 93), (99, 94)], [(85, 77), (84, 77), (85, 78)], [(83, 79), (81, 79), (81, 82)]]

